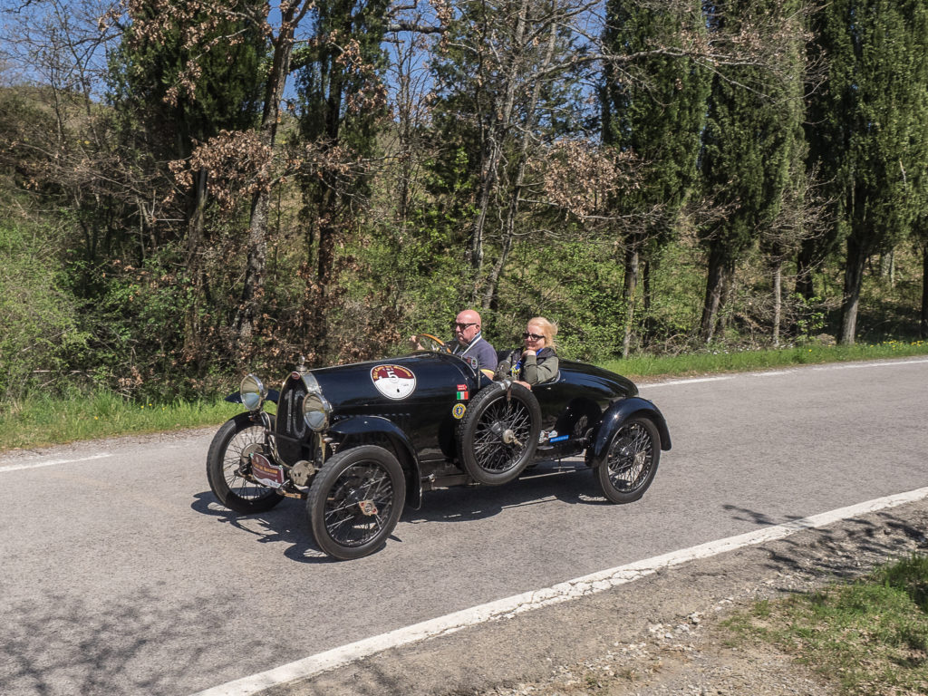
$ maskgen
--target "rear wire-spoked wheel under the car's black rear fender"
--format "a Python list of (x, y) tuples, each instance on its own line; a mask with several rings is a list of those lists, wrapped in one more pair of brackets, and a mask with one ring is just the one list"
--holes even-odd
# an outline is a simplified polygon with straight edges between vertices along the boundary
[(631, 503), (648, 490), (661, 461), (661, 435), (646, 418), (628, 419), (612, 435), (609, 455), (596, 476), (613, 503)]

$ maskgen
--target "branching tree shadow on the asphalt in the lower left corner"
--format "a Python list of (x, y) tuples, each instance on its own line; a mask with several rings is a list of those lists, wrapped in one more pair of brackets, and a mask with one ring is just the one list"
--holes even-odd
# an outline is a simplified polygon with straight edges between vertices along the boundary
[[(0, 693), (160, 694), (186, 696), (224, 677), (203, 635), (236, 635), (235, 651), (268, 661), (275, 647), (260, 635), (234, 632), (241, 599), (222, 593), (209, 602), (167, 602), (155, 586), (131, 597), (50, 592), (5, 607), (0, 626)], [(221, 639), (221, 638), (217, 638)]]

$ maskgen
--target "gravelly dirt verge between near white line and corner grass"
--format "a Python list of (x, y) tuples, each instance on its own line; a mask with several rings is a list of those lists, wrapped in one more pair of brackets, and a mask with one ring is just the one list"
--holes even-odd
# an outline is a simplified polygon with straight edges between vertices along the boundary
[(756, 599), (852, 580), (928, 547), (925, 499), (691, 561), (597, 595), (385, 651), (267, 696), (831, 696), (772, 646), (722, 625)]

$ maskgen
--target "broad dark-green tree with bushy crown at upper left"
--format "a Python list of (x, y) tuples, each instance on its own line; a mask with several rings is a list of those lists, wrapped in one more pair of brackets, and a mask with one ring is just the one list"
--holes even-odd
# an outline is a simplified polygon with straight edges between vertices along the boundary
[[(126, 158), (163, 177), (162, 197), (174, 188), (168, 184), (173, 176), (166, 161), (186, 160), (221, 131), (249, 130), (258, 123), (267, 48), (261, 28), (264, 3), (241, 0), (236, 9), (237, 19), (206, 5), (177, 5), (176, 13), (148, 3), (130, 8), (131, 23), (110, 59), (110, 101), (122, 122)], [(152, 33), (152, 25), (159, 32)], [(189, 36), (198, 33), (197, 45), (191, 45)], [(196, 80), (185, 84), (192, 64)], [(224, 317), (215, 312), (217, 294), (203, 262), (211, 244), (205, 228), (207, 172), (192, 173), (192, 182), (177, 215), (183, 221), (180, 264), (192, 288), (183, 342), (187, 357), (205, 367), (203, 342), (212, 331), (203, 326), (204, 308), (212, 310), (217, 323)]]

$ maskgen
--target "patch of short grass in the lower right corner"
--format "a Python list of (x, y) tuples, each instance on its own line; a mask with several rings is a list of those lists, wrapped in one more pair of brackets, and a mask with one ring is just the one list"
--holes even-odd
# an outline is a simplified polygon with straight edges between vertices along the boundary
[(928, 558), (884, 565), (850, 585), (759, 601), (728, 627), (792, 654), (848, 696), (928, 693)]

